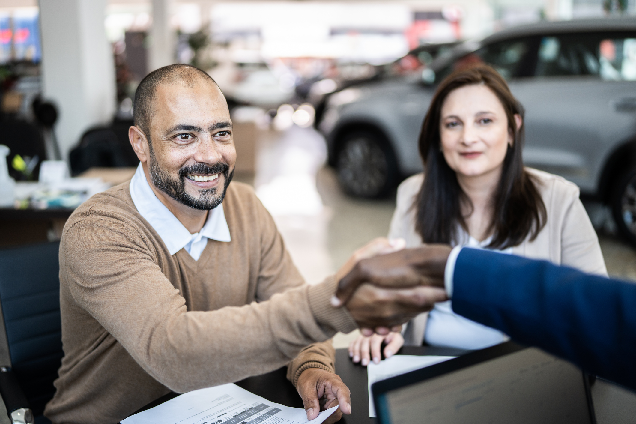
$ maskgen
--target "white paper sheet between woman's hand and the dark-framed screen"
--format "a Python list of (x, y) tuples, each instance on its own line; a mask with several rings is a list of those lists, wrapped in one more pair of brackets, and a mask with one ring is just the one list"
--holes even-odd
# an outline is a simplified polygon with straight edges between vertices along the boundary
[(376, 381), (386, 380), (399, 374), (406, 374), (416, 369), (428, 367), (445, 360), (457, 358), (455, 356), (419, 356), (419, 355), (394, 355), (389, 359), (380, 361), (380, 364), (371, 362), (366, 367), (369, 378), (369, 416), (375, 418), (375, 406), (373, 405), (373, 393), (371, 385)]

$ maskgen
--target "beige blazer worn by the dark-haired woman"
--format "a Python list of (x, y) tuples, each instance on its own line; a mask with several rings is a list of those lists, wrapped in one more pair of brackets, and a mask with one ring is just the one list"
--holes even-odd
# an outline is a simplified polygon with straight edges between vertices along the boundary
[[(548, 212), (548, 221), (537, 238), (527, 237), (513, 247), (513, 254), (532, 259), (545, 259), (557, 265), (571, 266), (586, 273), (607, 275), (598, 237), (583, 203), (579, 188), (558, 175), (526, 168), (541, 182), (537, 187)], [(389, 238), (402, 237), (406, 247), (421, 246), (422, 238), (415, 232), (415, 208), (412, 207), (424, 174), (407, 178), (397, 188), (396, 210), (391, 219)], [(421, 345), (428, 313), (422, 313), (406, 327), (406, 345)]]

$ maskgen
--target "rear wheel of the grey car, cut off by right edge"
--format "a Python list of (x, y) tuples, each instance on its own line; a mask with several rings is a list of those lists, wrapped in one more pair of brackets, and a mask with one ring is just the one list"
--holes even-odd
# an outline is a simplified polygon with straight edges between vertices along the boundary
[(636, 246), (636, 168), (617, 181), (611, 195), (614, 222), (620, 235)]

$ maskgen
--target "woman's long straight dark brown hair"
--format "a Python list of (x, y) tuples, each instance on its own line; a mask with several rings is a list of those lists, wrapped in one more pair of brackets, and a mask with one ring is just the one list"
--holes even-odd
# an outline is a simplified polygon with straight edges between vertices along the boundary
[(474, 206), (457, 182), (457, 175), (446, 163), (441, 152), (439, 126), (441, 108), (448, 94), (467, 85), (485, 85), (497, 96), (506, 111), (508, 129), (514, 135), (508, 146), (501, 179), (494, 193), (490, 227), (491, 249), (516, 246), (531, 234), (534, 240), (546, 224), (546, 207), (536, 184), (539, 181), (523, 168), (523, 125), (516, 128), (515, 114), (523, 118), (523, 106), (513, 97), (506, 81), (487, 65), (476, 65), (450, 74), (438, 86), (431, 107), (422, 123), (420, 155), (424, 161), (425, 178), (415, 199), (415, 229), (425, 243), (451, 243), (457, 240), (461, 226), (467, 232), (462, 215), (462, 203)]

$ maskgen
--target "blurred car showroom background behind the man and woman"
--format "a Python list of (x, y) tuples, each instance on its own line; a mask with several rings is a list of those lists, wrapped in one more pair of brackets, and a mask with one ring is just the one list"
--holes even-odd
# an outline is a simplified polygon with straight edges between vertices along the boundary
[(434, 88), (469, 62), (508, 79), (527, 165), (581, 187), (636, 280), (636, 0), (0, 0), (0, 246), (59, 239), (132, 176), (135, 88), (177, 62), (225, 93), (235, 179), (310, 283), (387, 235)]

